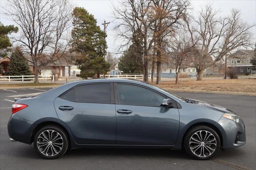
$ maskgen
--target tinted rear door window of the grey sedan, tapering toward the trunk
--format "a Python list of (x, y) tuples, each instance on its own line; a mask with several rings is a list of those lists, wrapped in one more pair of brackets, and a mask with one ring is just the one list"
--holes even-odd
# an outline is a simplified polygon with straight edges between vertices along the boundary
[(110, 103), (110, 83), (76, 86), (62, 95), (62, 99), (77, 102)]

